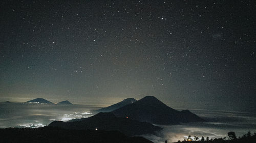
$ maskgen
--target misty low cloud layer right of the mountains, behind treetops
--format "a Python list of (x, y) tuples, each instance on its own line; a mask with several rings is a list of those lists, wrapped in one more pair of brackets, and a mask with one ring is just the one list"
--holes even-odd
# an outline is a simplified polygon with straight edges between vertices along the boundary
[(156, 135), (143, 135), (145, 138), (152, 140), (155, 143), (177, 142), (184, 140), (191, 135), (206, 138), (220, 138), (226, 137), (229, 131), (236, 132), (237, 136), (242, 136), (248, 131), (256, 132), (256, 115), (254, 113), (242, 112), (225, 112), (225, 111), (193, 111), (208, 122), (205, 123), (186, 123), (180, 125), (160, 126), (162, 131), (157, 132)]

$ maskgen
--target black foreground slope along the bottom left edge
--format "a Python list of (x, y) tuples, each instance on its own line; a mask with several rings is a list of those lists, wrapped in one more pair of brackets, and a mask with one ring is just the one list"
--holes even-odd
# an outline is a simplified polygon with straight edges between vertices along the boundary
[(153, 143), (143, 137), (127, 137), (118, 131), (68, 130), (60, 128), (6, 128), (0, 129), (1, 141), (5, 143)]

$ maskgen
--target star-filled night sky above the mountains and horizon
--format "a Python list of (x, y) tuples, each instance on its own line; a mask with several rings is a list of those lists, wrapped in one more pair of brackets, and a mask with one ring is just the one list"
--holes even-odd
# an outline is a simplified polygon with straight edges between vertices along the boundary
[(256, 109), (253, 1), (0, 3), (0, 101)]

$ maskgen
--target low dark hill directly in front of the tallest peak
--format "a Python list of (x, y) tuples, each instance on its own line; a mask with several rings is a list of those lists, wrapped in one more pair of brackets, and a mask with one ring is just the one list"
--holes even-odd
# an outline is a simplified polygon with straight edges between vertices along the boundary
[(97, 129), (104, 131), (120, 131), (126, 135), (154, 134), (155, 131), (162, 129), (150, 123), (132, 120), (129, 117), (117, 118), (110, 112), (100, 112), (90, 118), (84, 118), (74, 122), (54, 121), (49, 124), (49, 127), (78, 130)]

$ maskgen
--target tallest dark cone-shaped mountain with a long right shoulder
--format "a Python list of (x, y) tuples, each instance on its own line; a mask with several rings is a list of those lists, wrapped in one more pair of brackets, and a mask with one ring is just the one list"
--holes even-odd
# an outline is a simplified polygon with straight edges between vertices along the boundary
[(159, 125), (178, 124), (180, 122), (203, 122), (189, 110), (178, 111), (154, 96), (146, 96), (133, 104), (125, 105), (112, 111), (116, 117), (124, 118), (129, 116), (132, 119)]

